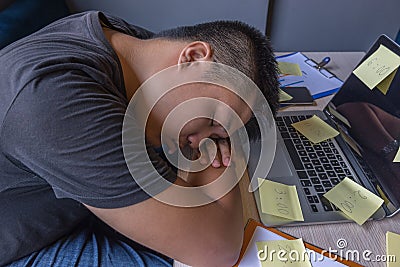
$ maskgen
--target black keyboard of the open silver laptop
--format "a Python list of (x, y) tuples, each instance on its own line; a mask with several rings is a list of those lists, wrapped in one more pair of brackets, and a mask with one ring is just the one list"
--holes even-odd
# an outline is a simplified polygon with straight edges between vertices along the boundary
[(354, 179), (349, 166), (331, 139), (311, 143), (292, 123), (310, 118), (306, 116), (281, 116), (276, 125), (292, 159), (301, 186), (313, 212), (338, 210), (323, 195), (345, 177)]

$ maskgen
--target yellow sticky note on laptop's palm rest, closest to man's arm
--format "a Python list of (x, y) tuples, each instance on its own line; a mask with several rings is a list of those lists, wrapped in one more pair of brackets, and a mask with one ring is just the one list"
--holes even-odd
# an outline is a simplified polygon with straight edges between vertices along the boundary
[(294, 221), (304, 221), (296, 186), (261, 178), (258, 178), (258, 184), (263, 213)]

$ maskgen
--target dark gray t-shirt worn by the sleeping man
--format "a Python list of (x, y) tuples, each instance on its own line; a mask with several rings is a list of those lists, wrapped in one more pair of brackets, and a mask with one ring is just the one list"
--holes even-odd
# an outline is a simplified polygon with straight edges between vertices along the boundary
[[(124, 159), (128, 99), (100, 21), (138, 38), (152, 35), (86, 12), (0, 50), (0, 265), (70, 232), (88, 215), (80, 203), (118, 208), (149, 198)], [(148, 153), (173, 182), (168, 164)]]

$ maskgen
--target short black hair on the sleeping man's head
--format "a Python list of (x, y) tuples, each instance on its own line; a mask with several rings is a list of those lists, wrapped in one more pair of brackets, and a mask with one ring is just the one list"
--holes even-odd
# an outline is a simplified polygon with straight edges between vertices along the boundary
[(269, 40), (259, 30), (240, 21), (214, 21), (159, 32), (161, 37), (203, 41), (219, 63), (243, 72), (260, 88), (273, 114), (279, 106), (278, 68)]

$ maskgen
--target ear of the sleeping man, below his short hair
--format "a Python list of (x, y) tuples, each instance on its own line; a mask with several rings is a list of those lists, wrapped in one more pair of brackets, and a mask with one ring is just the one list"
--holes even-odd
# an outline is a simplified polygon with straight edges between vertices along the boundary
[(213, 51), (209, 43), (195, 41), (183, 48), (178, 64), (194, 61), (211, 61), (212, 56)]

